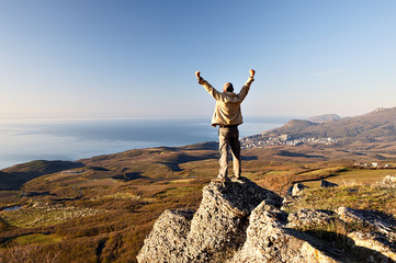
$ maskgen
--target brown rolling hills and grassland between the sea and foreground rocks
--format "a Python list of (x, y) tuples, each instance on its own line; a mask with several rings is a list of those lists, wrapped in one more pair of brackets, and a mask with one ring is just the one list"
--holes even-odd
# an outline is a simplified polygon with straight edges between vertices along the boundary
[[(342, 144), (245, 149), (244, 176), (281, 196), (296, 182), (314, 188), (323, 179), (372, 184), (396, 173), (395, 117), (389, 108), (323, 124), (292, 121), (268, 133), (330, 136)], [(4, 169), (0, 262), (136, 262), (162, 211), (199, 207), (202, 188), (217, 175), (217, 144), (204, 142)], [(364, 198), (351, 207), (396, 213), (394, 205), (380, 205), (395, 201), (394, 193)]]

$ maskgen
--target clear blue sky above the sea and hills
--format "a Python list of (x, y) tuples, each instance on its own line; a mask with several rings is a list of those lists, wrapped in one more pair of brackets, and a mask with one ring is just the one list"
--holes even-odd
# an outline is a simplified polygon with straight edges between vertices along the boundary
[(396, 106), (396, 1), (0, 0), (0, 117), (211, 116)]

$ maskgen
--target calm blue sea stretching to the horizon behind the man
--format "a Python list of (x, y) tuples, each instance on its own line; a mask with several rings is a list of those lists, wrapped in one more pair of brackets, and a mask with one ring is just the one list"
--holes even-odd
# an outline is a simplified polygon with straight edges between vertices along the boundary
[[(245, 117), (240, 137), (292, 117)], [(211, 118), (0, 118), (0, 170), (33, 160), (76, 161), (131, 149), (216, 141)]]

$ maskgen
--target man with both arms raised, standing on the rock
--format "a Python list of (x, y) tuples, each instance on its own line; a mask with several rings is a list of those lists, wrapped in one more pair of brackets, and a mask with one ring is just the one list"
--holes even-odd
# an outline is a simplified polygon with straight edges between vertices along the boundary
[(224, 84), (223, 92), (218, 92), (206, 80), (201, 77), (201, 72), (196, 71), (195, 76), (199, 83), (216, 100), (215, 112), (212, 117), (212, 126), (218, 128), (218, 149), (220, 159), (218, 160), (220, 169), (218, 179), (220, 181), (228, 180), (228, 156), (229, 148), (233, 153), (234, 173), (237, 179), (241, 176), (241, 159), (238, 125), (241, 124), (242, 114), (240, 112), (240, 103), (245, 100), (249, 92), (251, 82), (254, 81), (254, 70), (250, 69), (250, 77), (238, 94), (234, 93), (234, 87), (230, 82)]

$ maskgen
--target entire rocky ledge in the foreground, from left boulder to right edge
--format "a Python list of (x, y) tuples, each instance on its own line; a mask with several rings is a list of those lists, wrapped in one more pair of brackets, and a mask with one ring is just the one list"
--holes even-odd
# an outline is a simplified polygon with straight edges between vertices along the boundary
[[(248, 179), (213, 181), (203, 188), (196, 211), (166, 210), (157, 219), (137, 261), (396, 261), (393, 216), (347, 207), (287, 215), (282, 199)], [(354, 226), (353, 231), (330, 231), (341, 226)]]

